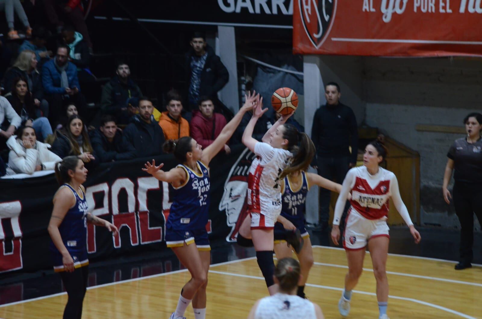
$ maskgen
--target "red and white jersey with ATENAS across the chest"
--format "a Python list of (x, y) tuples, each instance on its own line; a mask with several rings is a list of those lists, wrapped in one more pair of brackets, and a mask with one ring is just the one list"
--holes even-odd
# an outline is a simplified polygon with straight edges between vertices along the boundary
[(379, 219), (388, 215), (390, 184), (395, 177), (381, 167), (378, 173), (371, 175), (365, 166), (352, 169), (355, 182), (351, 187), (351, 206), (367, 219)]

